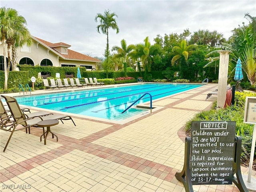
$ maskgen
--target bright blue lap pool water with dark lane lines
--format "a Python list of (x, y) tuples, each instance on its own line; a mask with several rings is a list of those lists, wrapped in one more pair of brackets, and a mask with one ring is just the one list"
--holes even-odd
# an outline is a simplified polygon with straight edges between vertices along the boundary
[[(19, 104), (38, 108), (93, 116), (109, 120), (123, 120), (144, 110), (130, 108), (121, 114), (128, 106), (145, 93), (152, 95), (152, 100), (170, 96), (179, 92), (202, 86), (200, 84), (136, 84), (94, 90), (75, 90), (70, 92), (44, 94), (16, 98)], [(147, 94), (136, 104), (150, 101)], [(135, 105), (136, 105), (135, 104)], [(153, 101), (154, 105), (154, 101)]]

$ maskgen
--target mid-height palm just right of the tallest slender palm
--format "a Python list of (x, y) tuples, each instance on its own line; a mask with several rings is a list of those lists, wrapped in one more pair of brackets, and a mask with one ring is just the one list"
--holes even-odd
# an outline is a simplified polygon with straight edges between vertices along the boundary
[(135, 48), (134, 45), (127, 46), (126, 41), (124, 39), (121, 40), (121, 47), (114, 46), (112, 48), (112, 51), (117, 51), (116, 57), (124, 58), (124, 76), (125, 77), (126, 77), (126, 68), (127, 68), (126, 59), (134, 48)]

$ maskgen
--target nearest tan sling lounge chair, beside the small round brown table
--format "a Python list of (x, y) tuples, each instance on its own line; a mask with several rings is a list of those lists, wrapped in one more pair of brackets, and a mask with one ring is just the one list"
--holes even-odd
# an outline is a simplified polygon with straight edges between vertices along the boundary
[[(21, 129), (26, 129), (26, 133), (27, 133), (27, 129), (30, 133), (30, 127), (37, 127), (37, 123), (42, 121), (42, 120), (60, 120), (62, 123), (62, 120), (72, 120), (72, 122), (74, 123), (73, 119), (71, 118), (71, 116), (65, 116), (65, 115), (60, 115), (60, 114), (51, 114), (51, 115), (47, 115), (47, 116), (32, 116), (30, 118), (27, 118), (25, 116), (25, 114), (22, 112), (22, 110), (20, 109), (20, 106), (17, 102), (17, 100), (13, 97), (10, 96), (3, 96), (1, 95), (5, 100), (6, 103), (10, 109), (10, 112), (12, 114), (12, 118), (14, 120), (14, 124), (12, 126), (12, 128), (10, 128), (9, 131), (11, 131), (10, 137), (6, 143), (6, 146), (4, 148), (4, 151), (6, 150), (10, 139), (12, 138), (12, 134), (14, 133), (14, 131), (16, 130), (21, 130)], [(21, 125), (21, 126), (20, 126)], [(74, 125), (76, 126), (76, 124), (74, 123)], [(4, 126), (4, 125), (2, 125)]]

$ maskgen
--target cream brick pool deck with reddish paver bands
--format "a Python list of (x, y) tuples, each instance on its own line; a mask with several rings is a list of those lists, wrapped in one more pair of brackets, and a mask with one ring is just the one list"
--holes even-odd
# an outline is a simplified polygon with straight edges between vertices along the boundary
[[(3, 152), (10, 132), (0, 130), (0, 191), (185, 192), (175, 178), (184, 164), (184, 124), (210, 109), (217, 96), (205, 99), (217, 86), (206, 84), (153, 101), (159, 106), (153, 114), (123, 124), (72, 116), (76, 126), (71, 121), (52, 126), (59, 140), (48, 136), (46, 145), (40, 142), (42, 129), (31, 128), (31, 134), (14, 132)], [(52, 90), (33, 94), (42, 92)], [(246, 167), (241, 171), (248, 174)], [(234, 184), (193, 189), (239, 192)]]

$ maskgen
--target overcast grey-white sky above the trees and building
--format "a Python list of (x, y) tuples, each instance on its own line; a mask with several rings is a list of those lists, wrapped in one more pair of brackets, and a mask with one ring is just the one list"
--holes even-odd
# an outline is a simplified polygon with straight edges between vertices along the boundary
[(118, 15), (120, 32), (109, 32), (110, 48), (143, 43), (154, 44), (156, 35), (217, 30), (225, 38), (231, 30), (248, 24), (244, 14), (256, 16), (255, 0), (0, 0), (0, 7), (16, 9), (27, 21), (33, 36), (48, 42), (64, 42), (70, 49), (102, 57), (106, 35), (99, 34), (97, 13), (110, 10)]

